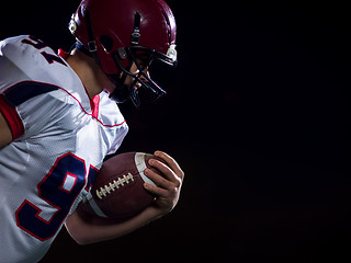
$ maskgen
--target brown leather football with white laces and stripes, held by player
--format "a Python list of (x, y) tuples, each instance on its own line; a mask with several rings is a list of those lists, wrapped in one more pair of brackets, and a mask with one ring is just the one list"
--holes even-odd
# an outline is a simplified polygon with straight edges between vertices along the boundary
[(100, 217), (126, 218), (149, 206), (155, 196), (144, 188), (144, 183), (155, 183), (144, 174), (148, 161), (160, 158), (144, 152), (125, 152), (104, 161), (90, 194), (82, 201), (86, 211)]

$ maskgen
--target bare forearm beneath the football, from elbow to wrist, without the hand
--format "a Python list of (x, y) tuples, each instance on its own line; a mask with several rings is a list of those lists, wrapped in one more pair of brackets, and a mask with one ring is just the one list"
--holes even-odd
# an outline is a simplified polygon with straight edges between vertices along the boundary
[(88, 217), (76, 210), (66, 220), (66, 228), (77, 243), (89, 244), (127, 235), (159, 216), (151, 207), (124, 221), (95, 216)]

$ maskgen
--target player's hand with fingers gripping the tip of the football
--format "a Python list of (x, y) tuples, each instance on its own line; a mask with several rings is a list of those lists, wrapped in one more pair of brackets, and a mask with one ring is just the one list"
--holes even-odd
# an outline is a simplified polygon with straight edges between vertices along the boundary
[(162, 175), (151, 169), (146, 169), (144, 171), (145, 175), (152, 180), (156, 186), (145, 183), (144, 187), (157, 196), (154, 208), (157, 209), (159, 216), (162, 216), (171, 211), (177, 205), (184, 179), (184, 172), (177, 161), (166, 152), (156, 151), (154, 155), (161, 158), (167, 165), (156, 159), (150, 159), (149, 164), (156, 168)]

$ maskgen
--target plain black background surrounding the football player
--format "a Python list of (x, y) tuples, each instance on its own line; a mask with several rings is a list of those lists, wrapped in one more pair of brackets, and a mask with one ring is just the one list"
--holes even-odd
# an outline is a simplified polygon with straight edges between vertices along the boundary
[[(173, 156), (185, 172), (179, 205), (98, 244), (63, 229), (42, 262), (350, 261), (347, 1), (168, 3), (179, 67), (154, 73), (165, 101), (122, 106), (131, 133), (118, 152)], [(78, 4), (2, 4), (0, 36), (67, 50)]]

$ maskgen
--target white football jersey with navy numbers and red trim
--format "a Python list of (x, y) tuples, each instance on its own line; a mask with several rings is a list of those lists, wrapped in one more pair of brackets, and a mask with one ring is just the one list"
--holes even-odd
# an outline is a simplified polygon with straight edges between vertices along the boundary
[(66, 61), (34, 36), (0, 42), (0, 262), (37, 262), (128, 127), (106, 92), (90, 100)]

